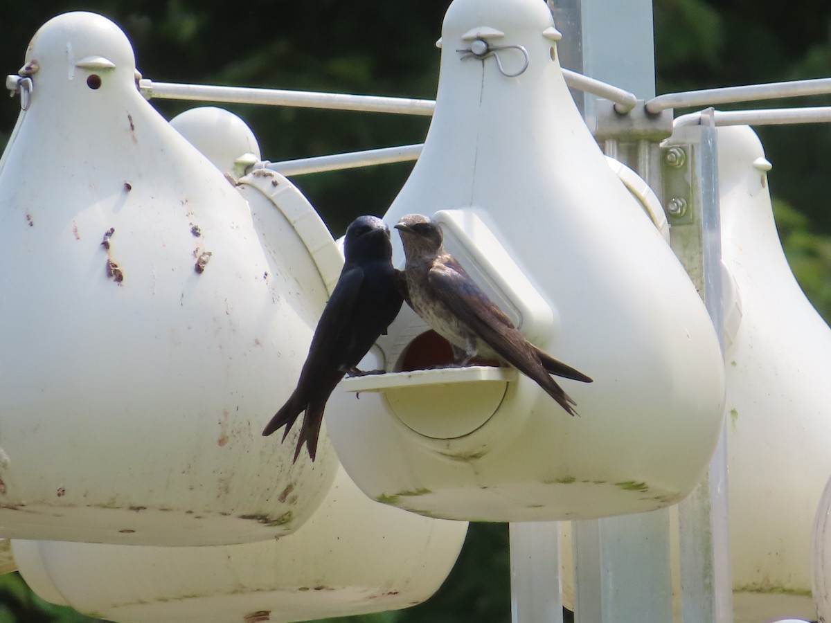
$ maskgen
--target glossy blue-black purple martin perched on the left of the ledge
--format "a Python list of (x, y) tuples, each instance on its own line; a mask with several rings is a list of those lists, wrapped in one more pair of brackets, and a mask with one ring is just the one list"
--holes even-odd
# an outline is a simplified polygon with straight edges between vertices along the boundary
[(297, 389), (263, 430), (282, 426), (283, 441), (297, 417), (306, 412), (294, 461), (306, 443), (312, 461), (329, 395), (344, 375), (358, 374), (358, 362), (386, 332), (401, 309), (401, 277), (392, 267), (390, 229), (381, 218), (361, 216), (347, 228), (344, 265), (312, 337)]

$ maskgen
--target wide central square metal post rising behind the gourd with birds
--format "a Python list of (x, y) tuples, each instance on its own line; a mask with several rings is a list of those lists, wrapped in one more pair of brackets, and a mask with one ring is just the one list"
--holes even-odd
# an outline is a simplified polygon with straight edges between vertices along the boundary
[[(652, 0), (549, 0), (563, 32), (563, 66), (621, 86), (640, 99), (655, 94)], [(595, 98), (574, 94), (593, 127)], [(640, 141), (623, 149), (603, 145), (650, 184), (660, 184), (652, 166), (656, 145)], [(575, 614), (579, 623), (671, 621), (669, 513), (574, 522)]]

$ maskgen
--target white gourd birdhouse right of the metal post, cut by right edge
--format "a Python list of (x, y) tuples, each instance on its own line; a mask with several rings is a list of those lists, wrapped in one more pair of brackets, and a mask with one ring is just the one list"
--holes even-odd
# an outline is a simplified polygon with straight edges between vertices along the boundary
[(831, 473), (831, 330), (784, 257), (755, 132), (719, 128), (718, 150), (735, 618), (813, 621), (810, 538)]

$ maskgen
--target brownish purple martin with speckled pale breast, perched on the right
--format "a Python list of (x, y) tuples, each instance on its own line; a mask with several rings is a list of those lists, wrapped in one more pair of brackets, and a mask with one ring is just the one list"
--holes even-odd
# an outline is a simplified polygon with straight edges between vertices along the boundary
[(548, 392), (568, 414), (576, 415), (574, 400), (549, 375), (583, 383), (592, 379), (524, 338), (459, 261), (445, 251), (438, 223), (421, 214), (407, 214), (396, 229), (406, 255), (407, 302), (450, 342), (459, 365), (467, 365), (475, 356), (507, 361)]

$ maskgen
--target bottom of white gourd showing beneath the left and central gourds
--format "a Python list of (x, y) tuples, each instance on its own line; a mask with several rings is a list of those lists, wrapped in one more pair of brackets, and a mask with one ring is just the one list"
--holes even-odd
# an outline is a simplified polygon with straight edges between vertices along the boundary
[(466, 529), (372, 502), (339, 469), (317, 513), (278, 540), (12, 547), (38, 595), (108, 621), (308, 621), (424, 601), (450, 572)]

